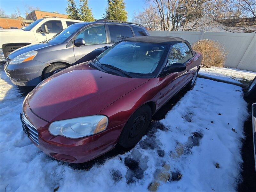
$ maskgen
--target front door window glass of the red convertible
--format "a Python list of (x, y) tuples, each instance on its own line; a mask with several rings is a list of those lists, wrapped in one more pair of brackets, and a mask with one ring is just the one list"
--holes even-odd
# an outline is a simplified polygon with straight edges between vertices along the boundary
[(172, 45), (172, 49), (168, 57), (168, 65), (172, 65), (172, 63), (185, 63), (188, 61), (186, 52), (187, 50), (183, 43)]

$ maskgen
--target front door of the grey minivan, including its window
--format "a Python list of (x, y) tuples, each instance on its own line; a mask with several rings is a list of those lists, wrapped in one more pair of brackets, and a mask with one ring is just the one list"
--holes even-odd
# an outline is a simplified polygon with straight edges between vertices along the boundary
[(104, 47), (109, 47), (107, 43), (106, 27), (104, 24), (93, 25), (85, 28), (82, 32), (79, 32), (74, 38), (83, 38), (85, 45), (74, 45), (74, 54), (76, 64), (89, 61), (100, 55)]

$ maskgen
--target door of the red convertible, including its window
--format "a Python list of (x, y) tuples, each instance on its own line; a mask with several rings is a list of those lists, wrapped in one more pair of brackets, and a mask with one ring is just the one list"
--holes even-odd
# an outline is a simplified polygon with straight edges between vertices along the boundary
[(173, 63), (183, 63), (187, 68), (184, 71), (170, 73), (160, 78), (162, 89), (159, 107), (164, 105), (164, 103), (172, 98), (173, 95), (180, 91), (180, 89), (187, 83), (187, 79), (189, 78), (191, 64), (188, 60), (187, 49), (184, 43), (178, 43), (172, 46), (168, 57), (168, 63), (165, 67), (168, 67)]

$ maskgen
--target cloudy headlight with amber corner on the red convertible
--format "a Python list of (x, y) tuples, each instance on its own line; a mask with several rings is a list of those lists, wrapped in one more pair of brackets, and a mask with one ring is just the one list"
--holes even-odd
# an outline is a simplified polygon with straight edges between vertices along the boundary
[(61, 135), (67, 138), (78, 139), (93, 135), (107, 129), (108, 117), (94, 115), (55, 121), (49, 126), (49, 132), (54, 135)]

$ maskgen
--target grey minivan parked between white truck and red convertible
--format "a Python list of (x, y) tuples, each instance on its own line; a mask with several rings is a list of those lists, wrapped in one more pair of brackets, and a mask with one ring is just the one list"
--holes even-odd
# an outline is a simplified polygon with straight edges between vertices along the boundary
[(27, 45), (6, 58), (4, 70), (13, 84), (36, 86), (64, 68), (94, 59), (122, 39), (149, 36), (136, 23), (97, 20), (70, 25), (44, 43)]

